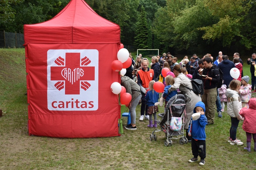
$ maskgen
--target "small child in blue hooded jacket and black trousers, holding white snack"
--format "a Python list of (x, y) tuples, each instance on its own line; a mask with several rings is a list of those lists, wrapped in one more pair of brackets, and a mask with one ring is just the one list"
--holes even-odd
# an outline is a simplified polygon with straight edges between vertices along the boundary
[(199, 119), (197, 120), (190, 120), (188, 126), (189, 136), (192, 136), (191, 140), (191, 148), (193, 158), (189, 159), (188, 162), (196, 162), (198, 161), (198, 156), (200, 156), (201, 160), (199, 165), (205, 164), (205, 157), (206, 157), (206, 144), (205, 144), (205, 125), (207, 124), (208, 120), (204, 115), (205, 112), (205, 105), (203, 102), (199, 101), (196, 103), (194, 108), (194, 113), (201, 113)]

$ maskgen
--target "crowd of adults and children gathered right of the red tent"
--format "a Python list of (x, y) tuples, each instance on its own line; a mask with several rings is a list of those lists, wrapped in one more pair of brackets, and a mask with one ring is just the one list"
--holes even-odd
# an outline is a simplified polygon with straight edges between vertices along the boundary
[[(136, 57), (135, 61), (131, 55), (130, 57), (133, 61), (132, 65), (121, 77), (121, 84), (132, 95), (129, 106), (131, 124), (125, 126), (127, 130), (137, 129), (135, 108), (138, 104), (141, 105), (139, 120), (147, 119), (149, 121), (147, 127), (149, 128), (157, 126), (158, 104), (155, 103), (158, 103), (159, 93), (154, 90), (153, 85), (160, 81), (165, 85), (160, 101), (165, 100), (165, 104), (167, 104), (168, 100), (177, 93), (183, 94), (186, 98), (184, 129), (188, 141), (191, 142), (194, 155), (188, 162), (196, 162), (197, 157), (200, 156), (199, 165), (204, 165), (206, 156), (204, 128), (205, 125), (214, 124), (215, 112), (219, 118), (222, 118), (225, 102), (227, 103), (227, 114), (231, 119), (228, 142), (231, 145), (243, 145), (243, 142), (236, 136), (238, 124), (242, 120), (244, 121), (243, 130), (247, 136), (247, 147), (244, 149), (251, 151), (251, 139), (253, 137), (254, 151), (256, 151), (256, 112), (254, 110), (256, 99), (251, 99), (251, 94), (256, 93), (256, 53), (247, 59), (247, 64), (251, 65), (251, 85), (248, 84), (250, 77), (243, 75), (243, 61), (237, 52), (234, 53), (233, 60), (220, 51), (216, 60), (211, 54), (205, 54), (202, 59), (194, 54), (190, 58), (185, 56), (180, 63), (169, 52), (163, 53), (162, 56), (153, 56), (151, 63), (141, 54)], [(240, 71), (239, 78), (236, 80), (230, 75), (230, 70), (234, 67)], [(170, 70), (165, 76), (161, 73), (163, 68)], [(220, 87), (218, 84), (222, 78), (223, 83)], [(202, 80), (204, 86), (202, 95), (195, 94), (191, 90), (193, 88), (191, 80), (193, 79)], [(141, 87), (146, 89), (146, 94), (141, 92)], [(197, 127), (196, 130), (201, 129), (200, 131), (192, 129), (190, 124), (191, 116), (197, 112), (201, 113), (201, 117), (199, 121), (194, 122), (193, 127)]]

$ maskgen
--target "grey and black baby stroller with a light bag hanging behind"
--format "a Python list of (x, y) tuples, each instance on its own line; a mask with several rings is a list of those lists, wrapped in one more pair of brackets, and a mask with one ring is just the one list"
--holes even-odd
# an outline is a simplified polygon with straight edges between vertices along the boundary
[[(165, 146), (172, 146), (172, 139), (180, 139), (180, 144), (184, 144), (188, 142), (188, 139), (184, 136), (184, 117), (186, 108), (186, 100), (185, 96), (182, 94), (178, 94), (173, 96), (166, 104), (165, 113), (158, 114), (161, 117), (160, 122), (157, 123), (157, 127), (150, 134), (150, 140), (156, 140), (157, 137), (154, 134), (155, 132), (164, 132), (166, 136)], [(182, 118), (182, 126), (179, 131), (172, 131), (170, 129), (171, 118), (173, 117), (181, 117)]]

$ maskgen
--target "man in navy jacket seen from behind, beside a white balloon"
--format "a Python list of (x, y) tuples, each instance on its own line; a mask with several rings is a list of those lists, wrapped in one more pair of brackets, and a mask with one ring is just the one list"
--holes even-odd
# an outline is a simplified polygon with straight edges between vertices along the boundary
[(229, 83), (233, 80), (230, 75), (230, 70), (231, 68), (234, 68), (235, 65), (232, 61), (228, 60), (227, 55), (224, 55), (222, 59), (223, 61), (219, 63), (217, 67), (223, 72), (223, 84), (226, 84), (226, 86), (228, 87)]

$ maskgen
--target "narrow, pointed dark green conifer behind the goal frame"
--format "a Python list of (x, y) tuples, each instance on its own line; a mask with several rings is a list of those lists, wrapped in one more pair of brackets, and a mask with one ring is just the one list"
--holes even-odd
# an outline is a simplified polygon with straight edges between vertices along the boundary
[(147, 28), (147, 18), (146, 18), (146, 12), (144, 10), (144, 7), (141, 7), (140, 12), (140, 18), (137, 23), (136, 28), (137, 36), (134, 37), (135, 39), (135, 45), (138, 49), (147, 49), (147, 34), (148, 34), (148, 28)]

